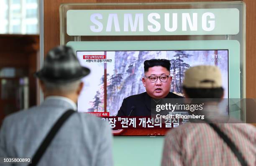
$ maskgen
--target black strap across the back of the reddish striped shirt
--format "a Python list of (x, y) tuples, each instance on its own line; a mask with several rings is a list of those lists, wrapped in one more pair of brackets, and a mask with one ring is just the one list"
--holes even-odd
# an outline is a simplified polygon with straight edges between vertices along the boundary
[(241, 163), (241, 166), (248, 166), (246, 160), (243, 158), (242, 153), (238, 150), (238, 148), (236, 147), (236, 145), (233, 143), (232, 140), (230, 140), (230, 138), (228, 138), (228, 136), (223, 133), (220, 128), (218, 128), (215, 124), (213, 123), (209, 123), (209, 125), (218, 133), (218, 135), (220, 136), (220, 138), (222, 138), (225, 143), (229, 146), (229, 148), (231, 149), (231, 151), (233, 151), (233, 153), (235, 154), (236, 158), (238, 159), (238, 161)]

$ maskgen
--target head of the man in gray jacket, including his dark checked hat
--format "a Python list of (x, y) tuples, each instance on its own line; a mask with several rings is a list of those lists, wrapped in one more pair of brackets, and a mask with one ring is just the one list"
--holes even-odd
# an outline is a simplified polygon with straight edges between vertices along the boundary
[(57, 46), (47, 53), (43, 68), (35, 76), (40, 79), (45, 97), (58, 95), (76, 100), (83, 87), (80, 79), (88, 74), (90, 69), (79, 64), (70, 47)]

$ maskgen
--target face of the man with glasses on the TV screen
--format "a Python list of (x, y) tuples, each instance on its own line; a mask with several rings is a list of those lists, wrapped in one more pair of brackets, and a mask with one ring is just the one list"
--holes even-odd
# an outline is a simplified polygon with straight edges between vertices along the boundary
[[(167, 96), (167, 94), (170, 92), (171, 88), (171, 82), (172, 82), (172, 77), (168, 77), (166, 82), (162, 82), (161, 80), (164, 80), (164, 77), (161, 77), (161, 80), (159, 76), (169, 76), (170, 72), (162, 66), (154, 66), (148, 68), (148, 71), (145, 72), (145, 76), (142, 78), (142, 82), (144, 87), (146, 87), (146, 92), (148, 95), (152, 98), (164, 98)], [(152, 77), (151, 76), (156, 76)], [(151, 80), (150, 80), (151, 77)], [(152, 82), (153, 81), (153, 82)]]

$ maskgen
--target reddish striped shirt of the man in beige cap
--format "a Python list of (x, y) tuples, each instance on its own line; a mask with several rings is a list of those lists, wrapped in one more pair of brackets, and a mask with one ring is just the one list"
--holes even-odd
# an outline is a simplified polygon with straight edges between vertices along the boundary
[[(256, 166), (256, 128), (245, 123), (216, 124), (241, 151), (249, 166)], [(228, 145), (210, 125), (187, 123), (165, 138), (162, 166), (240, 166)]]

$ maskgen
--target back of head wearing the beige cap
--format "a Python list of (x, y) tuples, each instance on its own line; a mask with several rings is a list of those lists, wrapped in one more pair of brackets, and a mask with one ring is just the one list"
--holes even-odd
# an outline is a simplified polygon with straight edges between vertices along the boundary
[(187, 98), (223, 98), (221, 72), (217, 66), (194, 66), (185, 72), (183, 91)]

